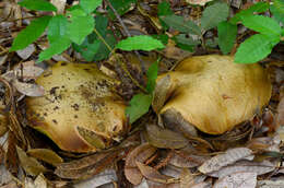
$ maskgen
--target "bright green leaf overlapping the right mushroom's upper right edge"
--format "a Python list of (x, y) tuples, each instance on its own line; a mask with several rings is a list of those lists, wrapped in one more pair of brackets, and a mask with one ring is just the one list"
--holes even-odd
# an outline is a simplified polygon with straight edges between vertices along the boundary
[(235, 55), (235, 62), (253, 63), (271, 54), (272, 48), (280, 42), (280, 37), (257, 34), (240, 44)]

